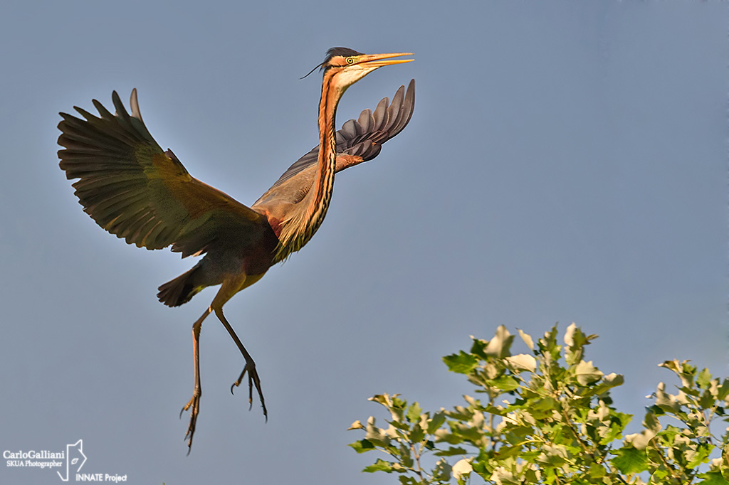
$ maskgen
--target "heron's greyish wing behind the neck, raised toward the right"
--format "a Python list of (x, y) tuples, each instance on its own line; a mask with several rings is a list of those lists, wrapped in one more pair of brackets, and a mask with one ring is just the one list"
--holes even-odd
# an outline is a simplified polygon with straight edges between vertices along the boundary
[[(358, 119), (350, 119), (342, 125), (337, 136), (337, 168), (344, 170), (367, 162), (378, 156), (382, 144), (400, 133), (410, 122), (415, 109), (415, 79), (400, 86), (389, 103), (383, 98), (375, 111), (365, 109)], [(276, 202), (296, 203), (303, 199), (314, 179), (314, 167), (319, 156), (319, 146), (294, 162), (284, 175), (278, 178), (253, 207), (268, 206)]]

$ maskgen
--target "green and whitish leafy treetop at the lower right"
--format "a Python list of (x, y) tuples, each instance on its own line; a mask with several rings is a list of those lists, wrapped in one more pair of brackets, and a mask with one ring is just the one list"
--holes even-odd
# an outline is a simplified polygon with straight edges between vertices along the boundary
[(443, 358), (480, 396), (464, 395), (463, 406), (430, 412), (397, 394), (370, 398), (389, 419), (386, 427), (375, 417), (351, 425), (364, 431), (350, 444), (356, 452), (384, 454), (363, 471), (396, 473), (402, 485), (729, 485), (729, 428), (717, 436), (711, 425), (729, 421), (729, 379), (667, 360), (660, 366), (677, 376), (677, 394), (661, 382), (643, 429), (624, 435), (632, 416), (610, 398), (623, 376), (585, 360), (596, 335), (574, 323), (564, 344), (557, 326), (537, 342), (518, 332), (530, 352), (512, 355), (515, 335), (501, 326), (490, 340), (472, 338), (469, 352)]

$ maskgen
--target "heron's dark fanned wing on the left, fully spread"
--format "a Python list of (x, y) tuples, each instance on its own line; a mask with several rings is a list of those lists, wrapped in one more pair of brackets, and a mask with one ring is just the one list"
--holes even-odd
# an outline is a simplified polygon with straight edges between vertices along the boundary
[[(190, 176), (171, 151), (162, 151), (141, 119), (136, 90), (128, 114), (117, 92), (115, 114), (93, 100), (100, 117), (61, 113), (61, 169), (84, 211), (106, 231), (147, 249), (172, 245), (182, 256), (205, 253), (235, 239), (252, 243), (270, 231), (265, 216)], [(225, 239), (225, 240), (224, 240)]]

